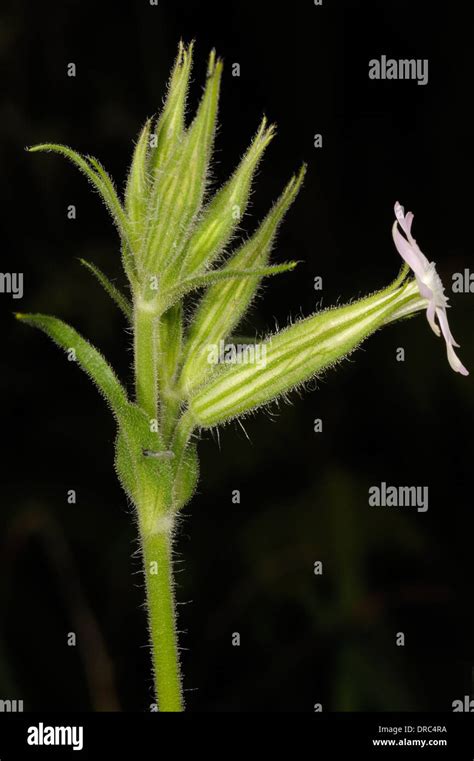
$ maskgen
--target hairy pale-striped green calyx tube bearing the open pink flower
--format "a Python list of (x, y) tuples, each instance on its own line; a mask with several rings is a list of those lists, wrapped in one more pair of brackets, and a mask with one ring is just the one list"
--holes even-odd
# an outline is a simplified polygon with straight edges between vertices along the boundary
[[(413, 282), (328, 309), (270, 336), (264, 363), (225, 366), (189, 403), (195, 426), (210, 428), (300, 386), (353, 352), (401, 307), (418, 302)], [(418, 306), (422, 309), (422, 306)]]

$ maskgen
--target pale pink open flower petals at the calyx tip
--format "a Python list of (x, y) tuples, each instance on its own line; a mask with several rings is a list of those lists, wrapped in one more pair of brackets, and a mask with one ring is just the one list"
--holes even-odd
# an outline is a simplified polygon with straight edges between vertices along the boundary
[[(437, 336), (440, 335), (441, 328), (441, 333), (446, 341), (448, 361), (453, 370), (461, 373), (461, 375), (469, 375), (464, 365), (456, 356), (453, 348), (454, 346), (459, 347), (459, 344), (456, 343), (449, 329), (446, 314), (446, 310), (449, 308), (448, 297), (445, 295), (443, 284), (436, 272), (435, 263), (428, 261), (423, 252), (418, 248), (417, 242), (411, 234), (413, 214), (411, 211), (405, 214), (403, 206), (400, 206), (397, 201), (395, 204), (395, 216), (396, 221), (393, 224), (392, 230), (393, 240), (398, 253), (413, 270), (421, 296), (428, 301), (426, 310), (428, 322)], [(401, 234), (399, 227), (405, 236)], [(436, 319), (438, 320), (439, 327)]]

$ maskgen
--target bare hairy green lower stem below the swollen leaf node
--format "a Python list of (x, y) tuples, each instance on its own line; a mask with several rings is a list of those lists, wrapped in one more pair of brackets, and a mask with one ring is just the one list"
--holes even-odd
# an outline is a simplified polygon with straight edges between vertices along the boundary
[(172, 531), (142, 537), (155, 688), (160, 711), (183, 710), (172, 577)]

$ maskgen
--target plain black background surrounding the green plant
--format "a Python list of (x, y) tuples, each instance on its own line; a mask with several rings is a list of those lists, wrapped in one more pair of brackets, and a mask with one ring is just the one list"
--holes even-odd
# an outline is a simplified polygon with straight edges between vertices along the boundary
[[(123, 188), (178, 40), (195, 38), (191, 110), (212, 46), (226, 63), (216, 185), (262, 113), (278, 123), (247, 230), (309, 163), (274, 254), (304, 263), (267, 284), (244, 332), (387, 284), (400, 264), (397, 199), (415, 212), (415, 235), (450, 292), (452, 273), (472, 267), (472, 26), (454, 2), (3, 5), (2, 271), (23, 272), (25, 294), (0, 296), (0, 697), (25, 710), (148, 710), (140, 558), (113, 469), (113, 421), (64, 354), (11, 316), (60, 316), (130, 380), (125, 323), (77, 261), (123, 282), (117, 238), (71, 165), (23, 148), (56, 141), (91, 153)], [(428, 58), (429, 84), (370, 81), (368, 61), (382, 54)], [(452, 295), (450, 312), (471, 370), (473, 299)], [(220, 449), (210, 435), (201, 444), (176, 547), (187, 707), (450, 710), (471, 693), (474, 666), (472, 381), (451, 371), (418, 316), (312, 386), (273, 421), (248, 419), (250, 442), (231, 425)], [(381, 481), (428, 485), (429, 511), (369, 507)], [(400, 631), (405, 647), (395, 645)]]

